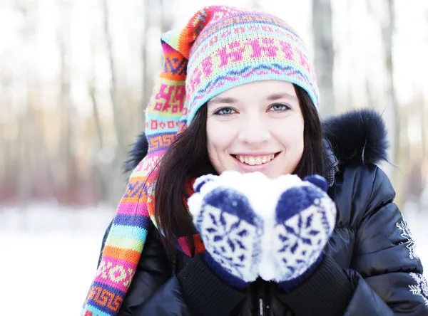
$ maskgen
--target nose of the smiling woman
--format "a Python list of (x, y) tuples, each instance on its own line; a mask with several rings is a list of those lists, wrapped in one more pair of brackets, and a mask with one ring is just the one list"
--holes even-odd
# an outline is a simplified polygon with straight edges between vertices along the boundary
[(238, 139), (240, 142), (257, 146), (270, 139), (270, 131), (266, 122), (263, 122), (260, 117), (247, 118), (241, 125)]

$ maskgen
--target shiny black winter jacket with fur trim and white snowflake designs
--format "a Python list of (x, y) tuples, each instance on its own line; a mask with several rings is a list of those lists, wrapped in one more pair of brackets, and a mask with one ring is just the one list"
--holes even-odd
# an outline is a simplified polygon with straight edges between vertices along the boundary
[[(337, 220), (320, 268), (303, 285), (287, 293), (260, 279), (245, 291), (230, 288), (199, 256), (169, 262), (153, 226), (119, 315), (428, 315), (412, 236), (375, 165), (387, 149), (382, 118), (362, 110), (334, 117), (324, 129)], [(146, 150), (142, 135), (128, 167)]]

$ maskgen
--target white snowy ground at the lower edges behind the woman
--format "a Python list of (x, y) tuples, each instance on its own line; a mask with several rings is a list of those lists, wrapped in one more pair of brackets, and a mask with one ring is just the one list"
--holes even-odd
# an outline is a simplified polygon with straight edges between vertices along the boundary
[[(96, 270), (103, 231), (114, 211), (0, 207), (0, 315), (79, 315)], [(427, 266), (428, 214), (407, 212)], [(428, 275), (428, 273), (425, 275)]]

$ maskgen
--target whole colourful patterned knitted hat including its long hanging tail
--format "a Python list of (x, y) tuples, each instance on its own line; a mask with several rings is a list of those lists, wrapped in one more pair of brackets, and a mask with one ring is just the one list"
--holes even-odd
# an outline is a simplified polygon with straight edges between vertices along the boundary
[[(164, 65), (146, 110), (148, 154), (134, 169), (118, 205), (81, 315), (117, 315), (155, 221), (158, 162), (175, 136), (210, 98), (258, 80), (284, 80), (307, 91), (318, 107), (315, 73), (297, 33), (259, 11), (208, 6), (179, 31), (161, 38)], [(195, 253), (204, 251), (198, 235)], [(178, 248), (188, 256), (185, 238)]]

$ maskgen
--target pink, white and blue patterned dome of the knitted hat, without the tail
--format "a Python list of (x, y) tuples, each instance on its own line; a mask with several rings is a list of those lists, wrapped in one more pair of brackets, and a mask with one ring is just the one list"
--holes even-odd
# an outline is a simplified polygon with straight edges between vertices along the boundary
[[(206, 18), (206, 19), (205, 19)], [(210, 19), (209, 19), (210, 18)], [(260, 80), (283, 80), (299, 85), (315, 107), (319, 97), (315, 71), (308, 61), (305, 43), (285, 21), (257, 11), (233, 9), (209, 17), (189, 43), (185, 78), (187, 125), (200, 106), (226, 90)], [(162, 40), (170, 43), (170, 34)]]

